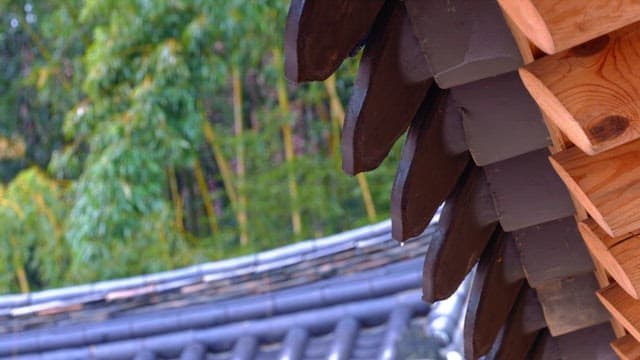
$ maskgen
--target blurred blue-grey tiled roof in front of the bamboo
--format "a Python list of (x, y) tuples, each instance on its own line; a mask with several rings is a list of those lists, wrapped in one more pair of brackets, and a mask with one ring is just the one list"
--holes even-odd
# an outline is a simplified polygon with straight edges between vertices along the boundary
[[(390, 223), (171, 272), (0, 297), (0, 358), (402, 358), (451, 347), (468, 286), (430, 306), (432, 225), (400, 247)], [(405, 251), (410, 249), (410, 251)], [(420, 347), (410, 341), (415, 328)], [(415, 337), (413, 335), (413, 337)], [(407, 350), (408, 349), (408, 350)]]

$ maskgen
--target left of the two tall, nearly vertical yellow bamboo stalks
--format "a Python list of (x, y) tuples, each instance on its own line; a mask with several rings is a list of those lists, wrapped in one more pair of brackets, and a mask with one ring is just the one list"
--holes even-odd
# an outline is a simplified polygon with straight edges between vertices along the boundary
[(242, 82), (240, 81), (240, 70), (237, 66), (231, 68), (231, 82), (233, 88), (233, 124), (236, 136), (236, 175), (238, 184), (238, 226), (240, 228), (240, 245), (249, 244), (247, 234), (247, 195), (245, 193), (245, 159), (242, 115)]

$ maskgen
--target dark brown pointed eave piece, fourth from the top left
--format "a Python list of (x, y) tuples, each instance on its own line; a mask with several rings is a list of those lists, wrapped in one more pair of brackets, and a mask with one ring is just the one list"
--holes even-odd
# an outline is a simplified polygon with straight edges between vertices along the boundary
[(426, 302), (451, 296), (476, 264), (494, 233), (498, 216), (482, 169), (470, 165), (440, 214), (441, 236), (425, 255), (422, 292)]

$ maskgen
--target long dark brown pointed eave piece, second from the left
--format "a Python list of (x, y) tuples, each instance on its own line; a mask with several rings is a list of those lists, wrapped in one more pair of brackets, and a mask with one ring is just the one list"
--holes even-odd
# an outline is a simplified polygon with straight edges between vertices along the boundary
[(371, 31), (349, 100), (342, 133), (346, 173), (355, 175), (380, 165), (431, 84), (404, 3), (388, 2)]

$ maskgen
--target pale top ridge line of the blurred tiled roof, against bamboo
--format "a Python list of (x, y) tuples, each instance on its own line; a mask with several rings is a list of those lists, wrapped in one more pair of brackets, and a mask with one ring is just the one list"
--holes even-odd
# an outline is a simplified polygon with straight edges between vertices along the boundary
[[(105, 291), (110, 291), (113, 290), (111, 289), (112, 284), (116, 284), (115, 287), (117, 287), (117, 285), (119, 284), (122, 287), (126, 287), (126, 286), (131, 286), (131, 287), (135, 287), (135, 286), (140, 286), (140, 285), (146, 285), (148, 284), (149, 278), (156, 276), (156, 277), (160, 277), (161, 279), (156, 279), (156, 280), (152, 280), (151, 282), (153, 283), (157, 283), (157, 282), (162, 282), (162, 281), (166, 281), (168, 280), (167, 278), (170, 278), (170, 280), (176, 280), (172, 278), (172, 275), (176, 274), (176, 273), (180, 273), (180, 272), (187, 272), (189, 274), (185, 274), (183, 275), (184, 277), (188, 277), (188, 276), (198, 276), (198, 275), (206, 275), (208, 274), (208, 272), (206, 270), (204, 270), (206, 267), (211, 266), (211, 267), (219, 267), (220, 269), (215, 269), (213, 271), (222, 271), (222, 270), (228, 270), (227, 268), (229, 267), (236, 267), (234, 265), (240, 265), (239, 263), (242, 262), (249, 262), (249, 263), (253, 263), (254, 265), (256, 263), (259, 263), (260, 261), (260, 256), (264, 257), (264, 254), (267, 254), (269, 252), (283, 252), (282, 249), (286, 249), (286, 248), (292, 248), (295, 253), (295, 250), (301, 246), (301, 244), (304, 243), (311, 243), (312, 244), (312, 250), (316, 249), (316, 245), (320, 244), (320, 245), (328, 245), (331, 243), (339, 243), (342, 241), (350, 241), (351, 236), (353, 237), (366, 237), (365, 235), (370, 235), (371, 233), (378, 233), (378, 232), (384, 232), (386, 228), (390, 228), (391, 222), (390, 220), (384, 220), (381, 221), (379, 223), (376, 224), (372, 224), (372, 225), (366, 225), (366, 226), (362, 226), (356, 229), (351, 229), (348, 231), (344, 231), (342, 233), (338, 233), (335, 235), (330, 235), (327, 236), (325, 238), (320, 238), (320, 239), (310, 239), (310, 240), (305, 240), (303, 242), (299, 242), (299, 243), (294, 243), (294, 244), (290, 244), (290, 245), (285, 245), (276, 249), (272, 249), (272, 250), (267, 250), (264, 252), (260, 252), (260, 253), (256, 253), (256, 254), (251, 254), (251, 255), (245, 255), (245, 256), (240, 256), (240, 257), (236, 257), (236, 258), (231, 258), (231, 259), (224, 259), (224, 260), (219, 260), (219, 261), (213, 261), (213, 262), (207, 262), (207, 263), (202, 263), (202, 264), (195, 264), (195, 265), (189, 265), (186, 267), (182, 267), (182, 268), (178, 268), (178, 269), (174, 269), (174, 270), (168, 270), (168, 271), (162, 271), (162, 272), (158, 272), (158, 273), (152, 273), (152, 274), (141, 274), (141, 275), (135, 275), (135, 276), (131, 276), (131, 277), (126, 277), (126, 278), (117, 278), (117, 279), (109, 279), (109, 280), (103, 280), (103, 281), (97, 281), (97, 282), (93, 282), (93, 283), (89, 283), (89, 284), (81, 284), (81, 285), (72, 285), (72, 286), (65, 286), (65, 287), (61, 287), (61, 288), (54, 288), (54, 289), (46, 289), (46, 290), (42, 290), (42, 291), (37, 291), (37, 292), (31, 292), (27, 294), (28, 297), (28, 302), (31, 303), (32, 302), (32, 297), (33, 295), (35, 295), (36, 298), (38, 297), (43, 297), (46, 298), (47, 295), (51, 294), (51, 293), (60, 293), (60, 292), (66, 292), (66, 291), (73, 291), (75, 289), (79, 289), (79, 288), (84, 288), (86, 286), (89, 286), (92, 288), (91, 292), (97, 291), (97, 289), (101, 290), (105, 290)], [(369, 232), (367, 232), (369, 231)], [(390, 230), (389, 230), (390, 231)], [(329, 241), (330, 240), (330, 241)], [(327, 242), (327, 244), (324, 244), (323, 242)], [(260, 255), (262, 254), (262, 255)], [(287, 254), (288, 255), (288, 254)], [(229, 266), (224, 266), (229, 264)], [(218, 265), (218, 266), (216, 266)], [(191, 274), (193, 273), (193, 274)], [(162, 277), (162, 275), (160, 274), (166, 274), (166, 278)], [(83, 292), (82, 290), (84, 289), (80, 289), (81, 291), (78, 291), (78, 295), (79, 294), (83, 294), (85, 292)], [(74, 294), (76, 295), (76, 294)], [(73, 295), (70, 295), (73, 296)], [(22, 294), (6, 294), (6, 295), (0, 295), (0, 308), (2, 308), (2, 302), (4, 300), (4, 298), (7, 297), (7, 300), (10, 300), (11, 298), (16, 298), (16, 297), (22, 297)], [(55, 298), (55, 296), (54, 296)], [(15, 300), (14, 300), (15, 301)]]

